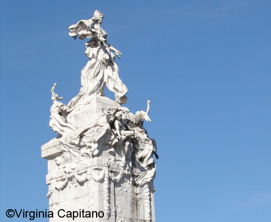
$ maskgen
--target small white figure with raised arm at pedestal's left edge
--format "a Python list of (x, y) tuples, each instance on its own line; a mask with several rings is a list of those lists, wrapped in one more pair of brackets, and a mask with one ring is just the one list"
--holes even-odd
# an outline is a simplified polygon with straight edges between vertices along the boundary
[(71, 124), (66, 122), (65, 117), (63, 116), (63, 113), (67, 110), (67, 106), (58, 101), (63, 100), (63, 98), (58, 97), (58, 95), (55, 93), (56, 85), (57, 84), (54, 83), (54, 86), (51, 89), (53, 105), (50, 109), (51, 115), (49, 126), (53, 131), (59, 134), (58, 138), (60, 138), (68, 132), (73, 132), (73, 127)]

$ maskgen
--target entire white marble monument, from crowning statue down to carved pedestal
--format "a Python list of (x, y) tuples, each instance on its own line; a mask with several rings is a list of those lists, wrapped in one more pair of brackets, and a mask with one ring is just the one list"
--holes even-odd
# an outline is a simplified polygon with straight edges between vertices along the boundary
[[(82, 88), (68, 106), (58, 100), (52, 87), (50, 127), (58, 137), (42, 146), (48, 160), (49, 209), (97, 210), (103, 218), (76, 218), (78, 222), (155, 222), (153, 180), (156, 142), (148, 137), (143, 122), (146, 111), (135, 114), (126, 103), (126, 86), (102, 30), (103, 15), (95, 11), (90, 20), (69, 27), (71, 37), (91, 38), (86, 43), (89, 62), (81, 72)], [(104, 97), (106, 86), (116, 101)], [(54, 218), (50, 222), (69, 222)]]

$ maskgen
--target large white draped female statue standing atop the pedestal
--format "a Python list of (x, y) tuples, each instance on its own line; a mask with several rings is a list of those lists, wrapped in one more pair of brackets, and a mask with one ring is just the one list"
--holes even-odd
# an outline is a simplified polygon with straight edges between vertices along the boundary
[[(104, 96), (104, 85), (115, 93), (116, 102), (125, 104), (128, 89), (121, 81), (118, 66), (114, 59), (114, 51), (120, 58), (121, 53), (106, 41), (106, 32), (101, 28), (103, 14), (96, 10), (93, 18), (81, 20), (69, 27), (69, 35), (76, 39), (91, 38), (86, 43), (87, 65), (81, 71), (81, 89), (79, 94), (68, 104), (68, 109), (74, 108), (78, 103), (87, 103), (87, 97), (95, 94)], [(111, 50), (111, 51), (110, 51)], [(80, 101), (80, 102), (79, 102)]]

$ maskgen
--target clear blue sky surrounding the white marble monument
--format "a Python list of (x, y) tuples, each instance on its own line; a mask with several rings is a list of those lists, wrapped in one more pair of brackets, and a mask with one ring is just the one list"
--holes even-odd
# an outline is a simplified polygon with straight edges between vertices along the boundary
[[(108, 42), (156, 139), (157, 222), (271, 221), (270, 0), (1, 0), (0, 221), (48, 210), (51, 87), (80, 89), (85, 42), (68, 27), (104, 14)], [(113, 99), (113, 93), (105, 91)], [(49, 219), (34, 221), (48, 222)]]

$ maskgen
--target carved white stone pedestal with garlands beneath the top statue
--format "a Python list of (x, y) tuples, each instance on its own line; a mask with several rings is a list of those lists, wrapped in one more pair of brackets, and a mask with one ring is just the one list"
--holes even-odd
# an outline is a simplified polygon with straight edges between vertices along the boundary
[(75, 131), (41, 147), (50, 222), (155, 222), (156, 146), (139, 117), (95, 95), (66, 117)]

